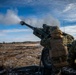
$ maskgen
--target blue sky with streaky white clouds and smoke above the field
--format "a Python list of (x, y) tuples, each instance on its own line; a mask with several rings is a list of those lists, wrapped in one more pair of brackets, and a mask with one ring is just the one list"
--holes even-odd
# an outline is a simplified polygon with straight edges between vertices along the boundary
[(57, 25), (76, 38), (76, 0), (0, 0), (0, 42), (40, 40), (21, 20), (35, 27)]

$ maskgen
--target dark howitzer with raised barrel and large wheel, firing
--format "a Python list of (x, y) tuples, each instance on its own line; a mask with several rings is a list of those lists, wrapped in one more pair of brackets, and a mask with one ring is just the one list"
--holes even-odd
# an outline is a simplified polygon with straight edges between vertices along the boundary
[[(48, 31), (49, 26), (46, 24), (43, 24), (43, 28), (36, 28), (36, 27), (30, 26), (29, 24), (25, 23), (24, 21), (21, 21), (20, 24), (26, 25), (27, 27), (34, 30), (33, 34), (36, 35), (37, 37), (39, 37), (41, 40), (50, 37), (50, 33)], [(42, 53), (41, 53), (40, 65), (41, 65), (41, 61), (42, 61), (45, 68), (51, 69), (52, 64), (50, 62), (48, 62), (48, 58), (49, 58), (49, 49), (47, 49), (44, 46)]]

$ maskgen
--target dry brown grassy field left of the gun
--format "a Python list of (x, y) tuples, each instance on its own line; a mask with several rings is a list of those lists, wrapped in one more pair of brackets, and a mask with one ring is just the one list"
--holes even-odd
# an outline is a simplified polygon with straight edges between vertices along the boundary
[(39, 42), (0, 44), (0, 65), (10, 68), (39, 65), (41, 51)]

